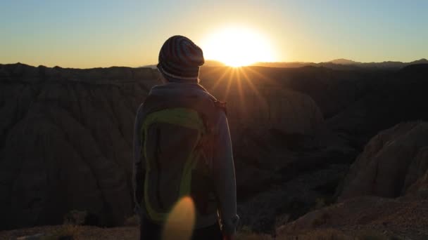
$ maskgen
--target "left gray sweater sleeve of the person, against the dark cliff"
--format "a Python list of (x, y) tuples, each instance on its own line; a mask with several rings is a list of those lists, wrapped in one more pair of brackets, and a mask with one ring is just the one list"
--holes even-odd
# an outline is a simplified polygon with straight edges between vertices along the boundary
[(141, 213), (140, 206), (141, 201), (143, 199), (143, 183), (144, 183), (144, 155), (141, 152), (141, 145), (143, 140), (141, 139), (141, 125), (142, 125), (142, 108), (143, 105), (140, 105), (140, 107), (137, 110), (137, 115), (135, 116), (135, 123), (134, 123), (134, 159), (132, 161), (132, 184), (134, 188), (134, 204), (137, 213)]

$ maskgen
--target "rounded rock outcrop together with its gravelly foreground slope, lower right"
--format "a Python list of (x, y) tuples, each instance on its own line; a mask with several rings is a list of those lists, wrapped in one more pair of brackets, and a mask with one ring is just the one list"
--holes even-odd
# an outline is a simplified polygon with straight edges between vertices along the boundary
[(367, 143), (345, 178), (338, 204), (307, 213), (277, 234), (339, 229), (359, 236), (427, 239), (427, 179), (428, 123), (398, 124)]

